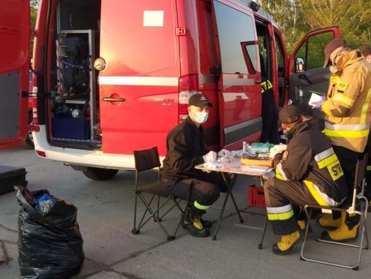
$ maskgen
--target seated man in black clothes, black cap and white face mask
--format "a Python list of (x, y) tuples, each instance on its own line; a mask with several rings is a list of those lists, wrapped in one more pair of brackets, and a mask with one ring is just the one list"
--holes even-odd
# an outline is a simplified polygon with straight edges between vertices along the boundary
[(161, 169), (161, 181), (168, 184), (168, 193), (192, 201), (181, 225), (192, 236), (210, 234), (210, 221), (201, 218), (205, 210), (218, 199), (225, 182), (220, 173), (205, 173), (195, 165), (216, 160), (215, 151), (207, 151), (202, 125), (207, 121), (212, 104), (202, 94), (189, 99), (188, 117), (172, 129), (166, 138), (166, 158)]

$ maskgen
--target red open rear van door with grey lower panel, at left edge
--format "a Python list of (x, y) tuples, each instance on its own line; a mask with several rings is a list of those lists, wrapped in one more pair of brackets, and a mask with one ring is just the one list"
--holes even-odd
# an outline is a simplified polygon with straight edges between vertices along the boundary
[(9, 148), (27, 135), (29, 0), (1, 1), (0, 42), (0, 148)]

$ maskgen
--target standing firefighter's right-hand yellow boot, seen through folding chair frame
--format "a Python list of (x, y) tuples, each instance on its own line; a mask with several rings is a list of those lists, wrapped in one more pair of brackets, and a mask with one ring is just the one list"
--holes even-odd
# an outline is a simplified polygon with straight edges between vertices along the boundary
[(321, 239), (328, 241), (348, 242), (355, 241), (358, 237), (359, 222), (352, 229), (345, 223), (346, 213), (341, 212), (341, 224), (336, 230), (322, 232)]

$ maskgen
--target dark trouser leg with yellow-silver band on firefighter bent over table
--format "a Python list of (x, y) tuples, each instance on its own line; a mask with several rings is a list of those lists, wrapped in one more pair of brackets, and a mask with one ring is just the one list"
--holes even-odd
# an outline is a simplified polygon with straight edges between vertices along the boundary
[(273, 233), (278, 235), (291, 234), (300, 229), (297, 220), (304, 219), (300, 206), (318, 205), (304, 182), (269, 178), (264, 185), (264, 194), (269, 223)]

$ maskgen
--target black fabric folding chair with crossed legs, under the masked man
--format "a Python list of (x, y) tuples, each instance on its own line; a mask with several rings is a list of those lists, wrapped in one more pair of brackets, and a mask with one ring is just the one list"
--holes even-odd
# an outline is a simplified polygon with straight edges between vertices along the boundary
[[(179, 229), (179, 226), (181, 225), (181, 221), (183, 219), (184, 210), (179, 205), (179, 202), (181, 202), (181, 199), (177, 199), (176, 197), (173, 197), (171, 195), (168, 195), (166, 193), (166, 183), (161, 182), (159, 180), (159, 167), (161, 166), (161, 162), (159, 160), (159, 152), (157, 150), (157, 147), (153, 147), (151, 149), (145, 149), (140, 151), (134, 151), (134, 159), (135, 159), (135, 188), (133, 189), (135, 193), (135, 209), (134, 209), (134, 227), (131, 232), (133, 234), (139, 234), (140, 229), (148, 223), (150, 219), (153, 219), (156, 223), (159, 224), (161, 230), (164, 231), (164, 233), (167, 236), (168, 240), (175, 239), (175, 235), (177, 234), (177, 231)], [(139, 173), (142, 171), (148, 171), (150, 169), (157, 168), (157, 181), (144, 184), (139, 186)], [(149, 196), (149, 197), (148, 197)], [(137, 223), (137, 199), (141, 199), (146, 209), (144, 210), (143, 216), (140, 219), (139, 223)], [(155, 197), (157, 197), (157, 202), (155, 202)], [(163, 202), (161, 202), (160, 198), (165, 198)], [(160, 216), (160, 210), (168, 204), (168, 202), (172, 201), (174, 204), (166, 210), (166, 212)], [(189, 202), (188, 202), (189, 203)], [(188, 206), (189, 204), (187, 204)], [(179, 208), (181, 212), (181, 219), (179, 220), (178, 226), (175, 229), (175, 232), (173, 234), (170, 234), (166, 228), (162, 225), (161, 221), (162, 219), (170, 213), (172, 208)]]

